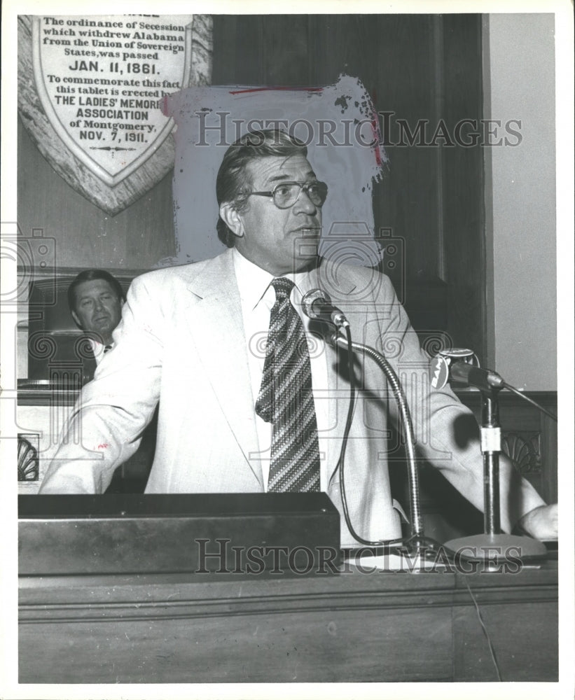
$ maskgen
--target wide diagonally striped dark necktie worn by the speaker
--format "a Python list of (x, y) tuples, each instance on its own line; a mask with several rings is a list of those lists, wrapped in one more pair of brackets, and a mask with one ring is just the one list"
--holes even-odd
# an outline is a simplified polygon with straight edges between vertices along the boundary
[(275, 304), (256, 413), (273, 423), (268, 491), (319, 491), (312, 368), (303, 323), (289, 301), (293, 282), (272, 279)]

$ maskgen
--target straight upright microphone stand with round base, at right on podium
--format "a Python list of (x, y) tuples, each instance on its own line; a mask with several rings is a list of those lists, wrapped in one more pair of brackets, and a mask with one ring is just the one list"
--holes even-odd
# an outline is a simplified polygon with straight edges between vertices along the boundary
[(460, 537), (445, 542), (445, 547), (459, 551), (466, 559), (496, 561), (517, 560), (519, 557), (546, 556), (543, 542), (520, 535), (501, 533), (499, 504), (499, 454), (501, 425), (499, 424), (499, 391), (503, 388), (480, 388), (481, 392), (481, 451), (483, 452), (483, 534)]

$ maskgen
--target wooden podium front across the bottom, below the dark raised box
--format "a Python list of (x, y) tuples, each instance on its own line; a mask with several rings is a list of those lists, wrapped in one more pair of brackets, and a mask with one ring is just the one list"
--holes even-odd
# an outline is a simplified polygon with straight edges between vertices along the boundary
[(340, 562), (339, 573), (312, 575), (21, 575), (19, 678), (497, 680), (474, 598), (501, 679), (554, 681), (557, 561), (537, 566), (518, 573), (362, 573)]

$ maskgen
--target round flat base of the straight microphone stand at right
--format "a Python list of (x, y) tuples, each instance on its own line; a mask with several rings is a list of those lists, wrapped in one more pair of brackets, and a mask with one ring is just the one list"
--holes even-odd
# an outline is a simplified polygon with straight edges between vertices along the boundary
[[(452, 552), (460, 552), (462, 559), (483, 561), (493, 564), (493, 570), (498, 570), (497, 563), (502, 561), (523, 561), (524, 559), (544, 559), (548, 555), (543, 542), (532, 537), (521, 535), (469, 535), (445, 542), (446, 548)], [(487, 566), (485, 570), (490, 570)]]

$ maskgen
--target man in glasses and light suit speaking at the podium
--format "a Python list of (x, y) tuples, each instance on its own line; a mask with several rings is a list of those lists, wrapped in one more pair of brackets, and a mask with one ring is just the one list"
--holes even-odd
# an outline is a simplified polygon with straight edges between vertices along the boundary
[[(85, 386), (41, 493), (102, 493), (114, 468), (137, 448), (160, 400), (158, 442), (148, 493), (267, 491), (275, 426), (256, 404), (263, 391), (265, 339), (277, 291), (293, 282), (291, 307), (307, 333), (317, 421), (317, 486), (342, 512), (335, 466), (342, 446), (349, 377), (337, 349), (315, 335), (301, 312), (311, 289), (345, 306), (352, 337), (374, 347), (396, 342), (389, 360), (404, 377), (421, 453), (471, 503), (483, 507), (483, 459), (474, 437), (457, 434), (469, 412), (446, 388), (431, 389), (429, 358), (389, 279), (372, 269), (319, 260), (321, 205), (327, 188), (307, 150), (284, 132), (254, 132), (224, 156), (216, 182), (218, 231), (228, 251), (212, 260), (135, 279), (114, 333), (116, 347)], [(291, 286), (291, 283), (290, 283)], [(389, 487), (387, 431), (394, 400), (380, 370), (356, 367), (359, 395), (349, 430), (345, 486), (354, 530), (369, 540), (401, 535)], [(272, 421), (273, 422), (273, 421)], [(315, 423), (314, 423), (315, 425)], [(315, 433), (314, 433), (315, 435)], [(501, 464), (501, 525), (518, 521), (532, 535), (556, 533), (556, 510)], [(342, 546), (354, 545), (342, 518)]]

